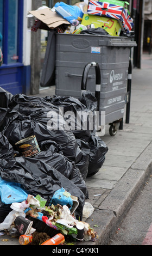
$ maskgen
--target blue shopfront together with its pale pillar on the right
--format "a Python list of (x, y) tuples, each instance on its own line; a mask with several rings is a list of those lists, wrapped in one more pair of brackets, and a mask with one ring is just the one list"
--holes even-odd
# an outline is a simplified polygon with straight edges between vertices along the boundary
[(0, 0), (0, 86), (12, 94), (26, 93), (30, 88), (31, 33), (25, 19), (29, 8), (30, 0)]

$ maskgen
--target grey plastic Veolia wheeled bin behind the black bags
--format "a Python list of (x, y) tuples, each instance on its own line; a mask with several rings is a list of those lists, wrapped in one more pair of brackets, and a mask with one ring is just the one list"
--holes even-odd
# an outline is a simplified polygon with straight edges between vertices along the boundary
[[(123, 118), (130, 49), (135, 41), (106, 35), (56, 34), (56, 95), (81, 95), (81, 79), (88, 62), (97, 62), (101, 72), (100, 111), (105, 124)], [(96, 75), (90, 69), (87, 90), (94, 92)]]

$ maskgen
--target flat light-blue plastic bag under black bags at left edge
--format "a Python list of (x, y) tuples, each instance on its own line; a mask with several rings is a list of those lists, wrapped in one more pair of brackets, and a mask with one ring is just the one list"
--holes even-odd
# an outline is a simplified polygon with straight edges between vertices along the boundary
[(0, 196), (4, 204), (20, 203), (27, 199), (28, 194), (20, 184), (8, 182), (0, 178)]

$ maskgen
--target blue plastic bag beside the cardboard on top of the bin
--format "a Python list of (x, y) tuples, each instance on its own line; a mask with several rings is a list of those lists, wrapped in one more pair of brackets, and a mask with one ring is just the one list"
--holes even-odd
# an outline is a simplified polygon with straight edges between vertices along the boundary
[(64, 16), (61, 15), (61, 13), (59, 13), (62, 17), (64, 17), (65, 20), (67, 20), (71, 24), (73, 23), (73, 20), (77, 20), (78, 17), (83, 18), (84, 14), (77, 5), (68, 5), (64, 2), (58, 2), (54, 5), (54, 8), (56, 9), (59, 6), (62, 7), (65, 11), (67, 11), (67, 13), (71, 14), (71, 16)]

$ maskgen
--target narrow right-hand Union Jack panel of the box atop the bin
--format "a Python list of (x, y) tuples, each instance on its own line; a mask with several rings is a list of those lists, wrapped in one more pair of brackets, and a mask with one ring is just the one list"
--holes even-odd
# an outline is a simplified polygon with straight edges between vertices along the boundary
[(124, 9), (121, 17), (123, 27), (127, 33), (134, 27), (134, 20), (130, 17), (128, 10)]

